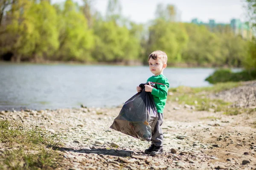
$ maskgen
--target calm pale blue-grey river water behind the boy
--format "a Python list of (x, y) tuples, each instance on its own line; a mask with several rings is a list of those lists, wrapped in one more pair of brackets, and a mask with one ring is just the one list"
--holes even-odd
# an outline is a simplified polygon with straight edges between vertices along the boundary
[[(170, 87), (201, 87), (212, 68), (166, 68)], [(152, 76), (148, 66), (0, 64), (0, 110), (112, 107)]]

